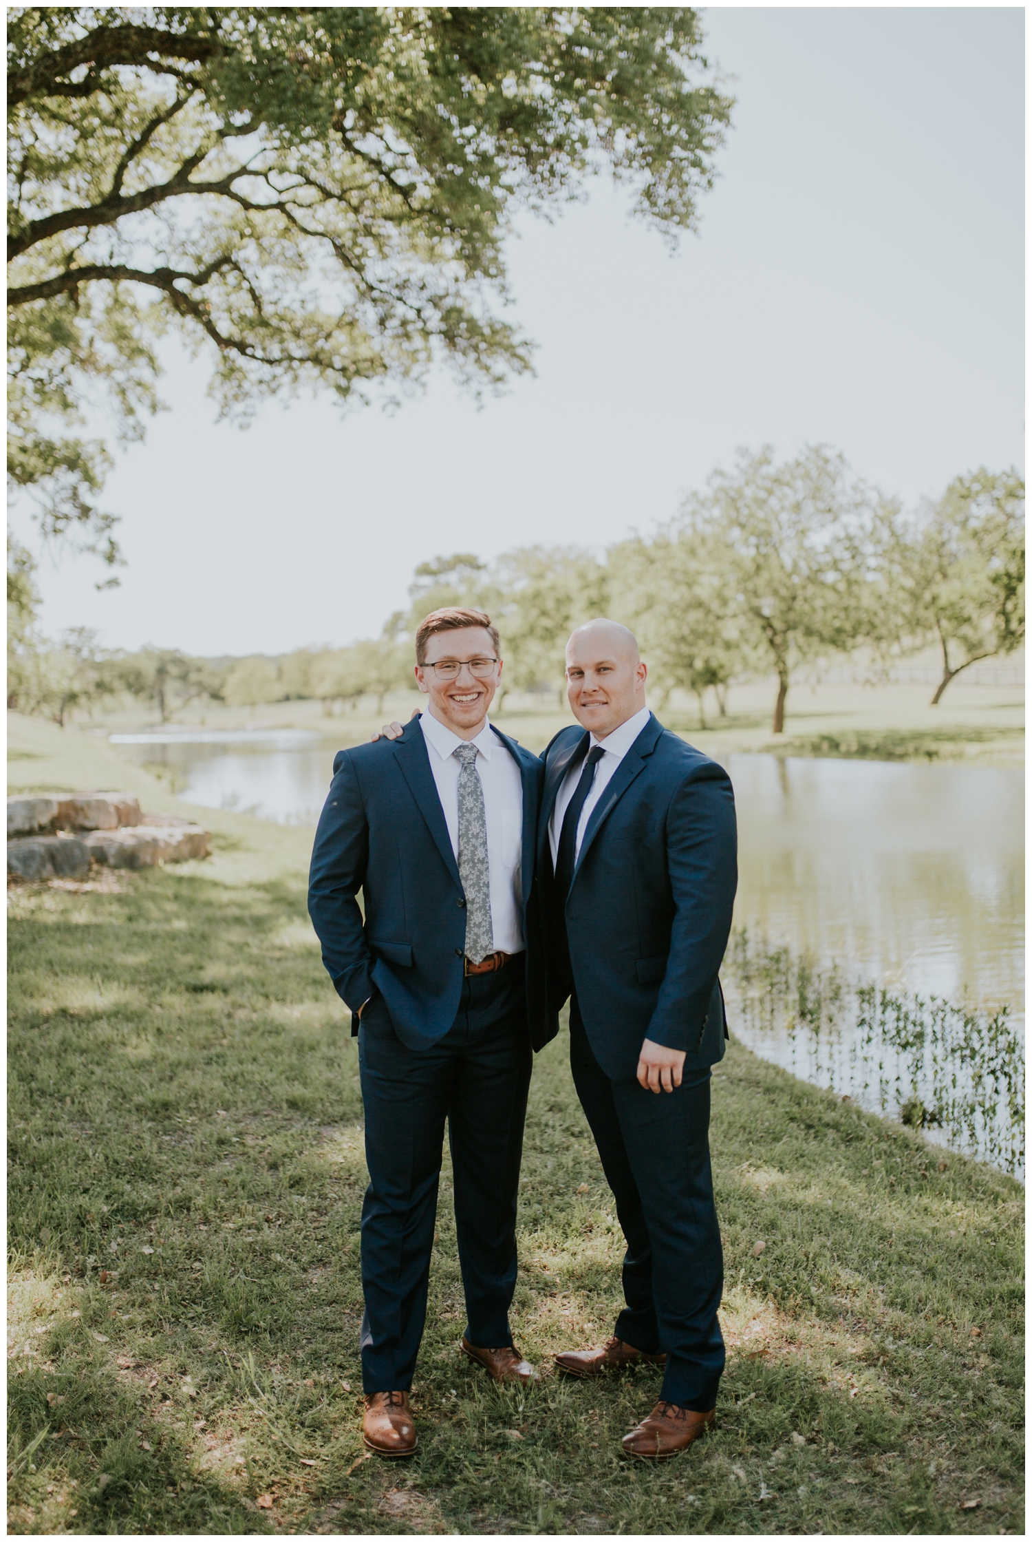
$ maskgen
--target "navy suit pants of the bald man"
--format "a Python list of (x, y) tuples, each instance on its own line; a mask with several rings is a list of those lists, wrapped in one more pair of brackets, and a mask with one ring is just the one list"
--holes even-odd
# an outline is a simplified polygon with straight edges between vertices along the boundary
[(724, 1371), (710, 1070), (685, 1072), (673, 1092), (611, 1081), (591, 1052), (576, 996), (570, 998), (570, 1066), (627, 1243), (627, 1305), (613, 1332), (645, 1354), (665, 1352), (662, 1399), (709, 1412)]

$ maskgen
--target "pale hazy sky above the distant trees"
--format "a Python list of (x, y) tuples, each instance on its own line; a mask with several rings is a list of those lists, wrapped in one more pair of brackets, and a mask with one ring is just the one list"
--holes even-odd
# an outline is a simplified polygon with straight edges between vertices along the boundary
[[(396, 412), (328, 398), (216, 423), (166, 352), (168, 412), (119, 453), (120, 586), (43, 552), (42, 628), (102, 646), (280, 654), (376, 635), (417, 563), (602, 552), (739, 446), (843, 450), (912, 504), (1023, 460), (1023, 11), (710, 8), (736, 97), (670, 254), (607, 182), (508, 244), (531, 378), (445, 373)], [(28, 506), (15, 534), (31, 540)]]

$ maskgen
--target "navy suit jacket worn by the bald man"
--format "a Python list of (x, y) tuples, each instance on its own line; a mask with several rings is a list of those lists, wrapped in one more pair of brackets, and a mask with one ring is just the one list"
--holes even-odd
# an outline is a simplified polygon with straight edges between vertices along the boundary
[[(547, 936), (558, 921), (548, 822), (564, 776), (587, 749), (587, 729), (570, 726), (542, 757), (538, 871)], [(718, 970), (736, 862), (727, 771), (650, 715), (591, 811), (565, 905), (578, 1005), (607, 1076), (633, 1076), (645, 1038), (685, 1050), (685, 1070), (722, 1059)], [(555, 971), (550, 993), (561, 1007)]]

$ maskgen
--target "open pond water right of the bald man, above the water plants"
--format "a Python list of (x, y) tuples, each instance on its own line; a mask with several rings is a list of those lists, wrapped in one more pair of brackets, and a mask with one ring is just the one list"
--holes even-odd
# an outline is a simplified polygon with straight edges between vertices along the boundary
[(735, 919), (880, 984), (1021, 1004), (1021, 773), (732, 756)]

